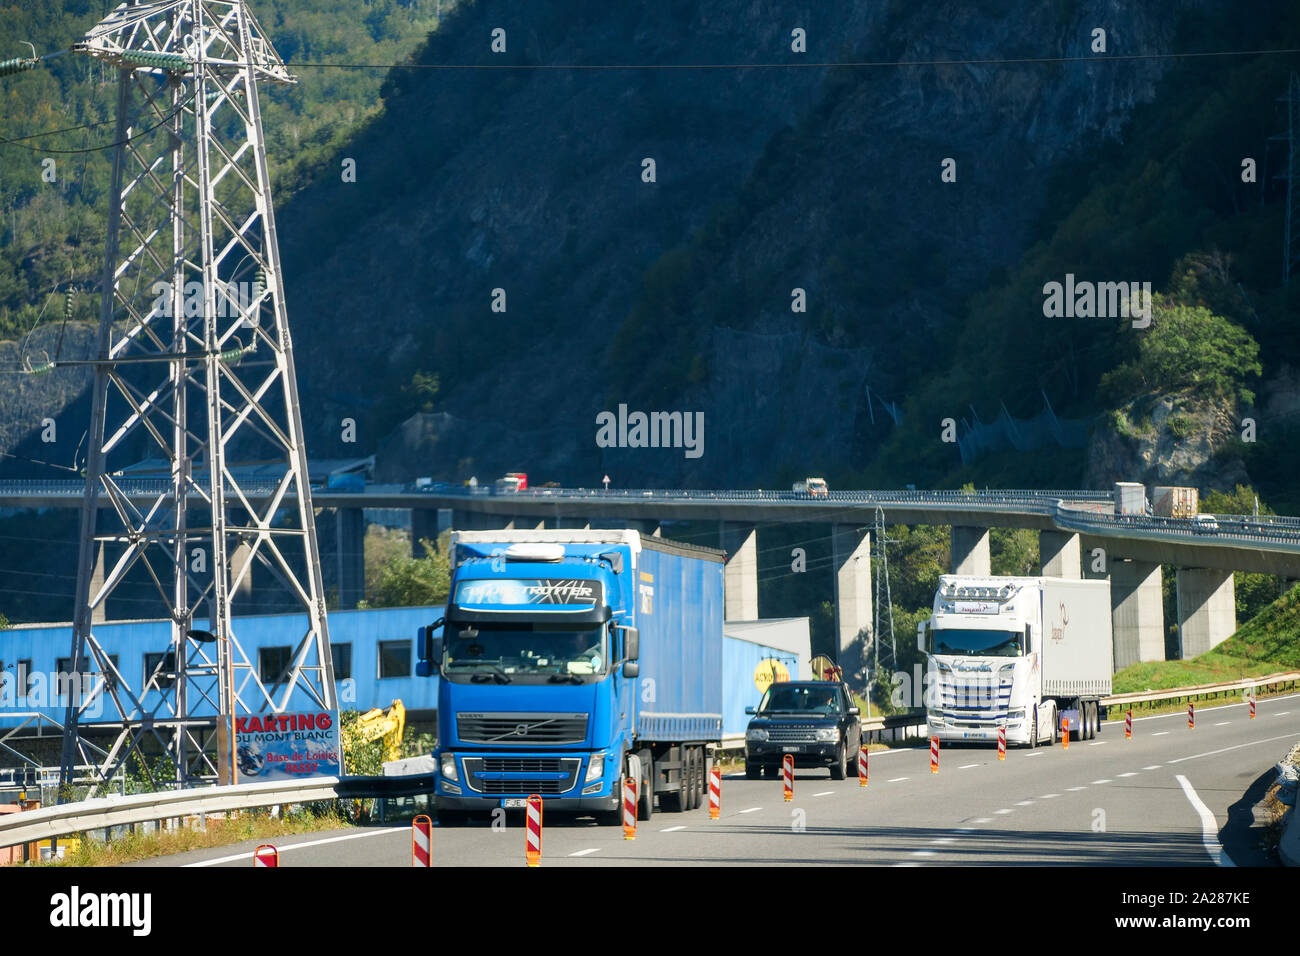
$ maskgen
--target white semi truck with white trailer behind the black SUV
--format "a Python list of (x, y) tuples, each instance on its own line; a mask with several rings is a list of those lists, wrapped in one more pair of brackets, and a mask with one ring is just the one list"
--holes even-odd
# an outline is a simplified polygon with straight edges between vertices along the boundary
[(916, 628), (926, 722), (940, 740), (1054, 743), (1097, 735), (1114, 650), (1110, 583), (942, 575)]

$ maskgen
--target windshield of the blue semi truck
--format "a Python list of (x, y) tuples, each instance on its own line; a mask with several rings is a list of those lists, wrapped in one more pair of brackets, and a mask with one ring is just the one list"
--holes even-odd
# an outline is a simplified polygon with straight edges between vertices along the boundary
[(555, 683), (586, 683), (608, 670), (604, 627), (573, 624), (450, 624), (443, 662), (448, 676), (508, 683), (515, 676), (543, 676)]

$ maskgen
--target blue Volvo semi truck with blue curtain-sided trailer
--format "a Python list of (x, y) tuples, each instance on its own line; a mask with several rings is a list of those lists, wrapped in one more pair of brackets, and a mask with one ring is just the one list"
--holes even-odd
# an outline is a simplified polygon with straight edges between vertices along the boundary
[(451, 535), (438, 684), (441, 823), (523, 808), (620, 821), (701, 805), (722, 740), (723, 553), (636, 531)]

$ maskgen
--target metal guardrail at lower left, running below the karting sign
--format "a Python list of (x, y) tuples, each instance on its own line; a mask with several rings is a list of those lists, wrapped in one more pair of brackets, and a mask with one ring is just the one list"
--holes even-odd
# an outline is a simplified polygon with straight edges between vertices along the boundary
[(317, 800), (415, 796), (432, 791), (432, 777), (316, 777), (98, 797), (0, 817), (0, 847), (205, 813)]

